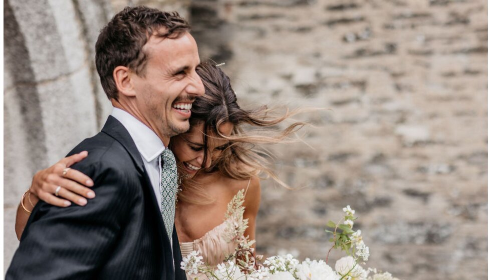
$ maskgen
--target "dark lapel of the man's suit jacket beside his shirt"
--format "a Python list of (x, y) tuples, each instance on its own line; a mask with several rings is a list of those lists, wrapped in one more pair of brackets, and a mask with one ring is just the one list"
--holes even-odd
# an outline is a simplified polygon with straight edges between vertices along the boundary
[[(162, 279), (174, 279), (174, 267), (172, 267), (172, 262), (171, 261), (165, 261), (166, 259), (171, 259), (173, 258), (172, 252), (170, 250), (170, 240), (169, 237), (167, 236), (167, 232), (165, 231), (165, 226), (164, 222), (162, 220), (162, 216), (160, 214), (160, 208), (157, 203), (157, 198), (155, 197), (155, 192), (152, 187), (152, 183), (150, 182), (150, 178), (148, 177), (148, 174), (146, 172), (145, 166), (143, 165), (143, 160), (141, 158), (140, 152), (138, 151), (138, 148), (135, 145), (135, 142), (130, 136), (130, 133), (126, 128), (123, 126), (119, 120), (117, 120), (114, 116), (110, 115), (106, 123), (104, 124), (104, 127), (102, 128), (102, 132), (108, 134), (109, 136), (113, 137), (116, 141), (120, 142), (121, 145), (128, 151), (128, 153), (131, 155), (131, 158), (133, 159), (133, 162), (138, 169), (138, 172), (140, 172), (143, 177), (145, 178), (145, 185), (142, 187), (144, 188), (144, 191), (148, 193), (149, 200), (150, 202), (152, 211), (156, 214), (156, 227), (159, 232), (160, 239), (162, 240), (161, 244), (161, 250), (163, 252), (163, 262), (166, 266), (165, 269), (165, 277), (162, 275)], [(174, 229), (174, 237), (172, 239), (177, 240), (177, 234), (175, 233)], [(175, 242), (174, 242), (175, 243)], [(176, 246), (173, 246), (173, 251), (174, 255), (176, 255), (176, 251), (179, 252), (179, 242), (177, 241), (177, 250)], [(182, 257), (179, 256), (179, 265), (180, 265), (180, 259)], [(177, 262), (176, 258), (174, 258), (174, 263)], [(175, 264), (177, 265), (177, 264)], [(179, 268), (179, 270), (182, 270)], [(185, 279), (185, 276), (184, 276)]]

